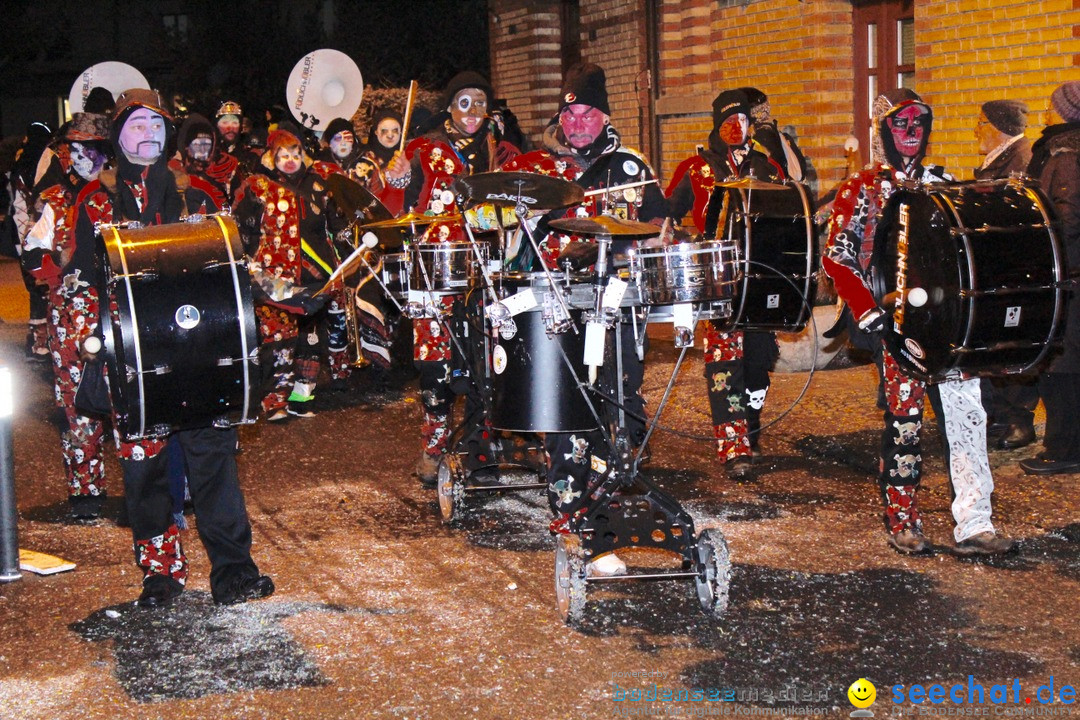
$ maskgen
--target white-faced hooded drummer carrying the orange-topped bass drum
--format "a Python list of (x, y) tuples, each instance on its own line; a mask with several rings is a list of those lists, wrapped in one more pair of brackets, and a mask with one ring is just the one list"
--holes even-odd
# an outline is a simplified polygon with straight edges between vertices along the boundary
[[(76, 244), (63, 268), (63, 285), (71, 291), (97, 287), (95, 223), (138, 221), (144, 226), (177, 222), (183, 200), (167, 166), (173, 123), (158, 93), (129, 90), (117, 98), (110, 127), (117, 167), (103, 172), (80, 195)], [(107, 305), (105, 298), (102, 304)], [(114, 422), (114, 426), (121, 423)], [(252, 527), (237, 472), (235, 427), (195, 427), (173, 433), (188, 462), (188, 481), (199, 535), (211, 561), (214, 601), (233, 604), (274, 592), (251, 555)], [(124, 474), (124, 498), (135, 558), (143, 571), (138, 604), (172, 604), (188, 576), (188, 561), (170, 495), (164, 437), (130, 440), (117, 437)]]

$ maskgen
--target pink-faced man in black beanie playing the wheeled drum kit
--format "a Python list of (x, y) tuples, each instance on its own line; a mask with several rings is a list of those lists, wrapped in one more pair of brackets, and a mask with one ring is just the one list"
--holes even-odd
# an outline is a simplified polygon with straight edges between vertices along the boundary
[[(504, 171), (552, 175), (572, 180), (586, 190), (610, 188), (611, 192), (592, 195), (570, 214), (602, 213), (627, 220), (660, 222), (667, 216), (667, 203), (654, 182), (617, 190), (656, 177), (646, 159), (636, 150), (622, 145), (611, 125), (607, 78), (604, 69), (591, 63), (571, 67), (563, 81), (558, 114), (543, 134), (543, 149), (534, 150), (504, 164)], [(659, 234), (659, 228), (658, 228)], [(553, 233), (542, 242), (542, 260), (558, 267), (568, 247), (569, 237)], [(618, 248), (615, 252), (619, 252)], [(623, 392), (625, 395), (625, 429), (631, 445), (637, 447), (645, 436), (645, 400), (640, 395), (645, 364), (634, 350), (633, 329), (621, 325)], [(570, 516), (589, 501), (591, 456), (602, 454), (605, 447), (602, 433), (548, 433), (544, 448), (550, 459), (548, 501), (555, 514), (552, 530), (567, 530)], [(615, 554), (590, 562), (589, 572), (615, 575), (626, 572), (625, 563)]]

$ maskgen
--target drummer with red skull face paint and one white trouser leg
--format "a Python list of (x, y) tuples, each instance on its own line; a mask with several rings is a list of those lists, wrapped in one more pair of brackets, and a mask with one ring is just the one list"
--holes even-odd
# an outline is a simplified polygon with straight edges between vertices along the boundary
[[(851, 309), (859, 331), (880, 334), (892, 316), (882, 307), (890, 304), (890, 299), (879, 303), (870, 290), (875, 228), (889, 195), (904, 180), (947, 179), (941, 167), (923, 164), (932, 122), (930, 106), (913, 91), (897, 89), (879, 95), (873, 106), (873, 162), (848, 178), (837, 192), (822, 267)], [(900, 553), (924, 553), (930, 545), (922, 534), (917, 491), (922, 479), (919, 440), (927, 385), (905, 371), (883, 339), (878, 344), (887, 404), (878, 484), (887, 538)], [(942, 419), (954, 491), (956, 552), (1004, 553), (1013, 541), (997, 534), (990, 520), (994, 478), (986, 456), (986, 411), (978, 380), (946, 380), (936, 388), (942, 406), (937, 417)]]

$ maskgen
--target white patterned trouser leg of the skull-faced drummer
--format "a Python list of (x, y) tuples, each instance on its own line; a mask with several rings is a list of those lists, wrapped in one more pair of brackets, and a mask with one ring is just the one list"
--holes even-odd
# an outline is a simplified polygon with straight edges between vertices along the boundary
[(949, 448), (949, 479), (953, 483), (953, 519), (957, 542), (980, 532), (994, 532), (990, 493), (994, 477), (986, 457), (986, 410), (978, 380), (948, 380), (939, 385), (945, 417), (945, 439)]

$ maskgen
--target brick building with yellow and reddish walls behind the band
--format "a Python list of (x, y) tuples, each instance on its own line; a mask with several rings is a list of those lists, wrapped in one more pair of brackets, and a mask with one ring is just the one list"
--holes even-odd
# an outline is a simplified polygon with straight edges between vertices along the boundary
[[(866, 148), (867, 98), (903, 83), (934, 108), (930, 160), (970, 178), (978, 106), (1025, 100), (1031, 138), (1050, 93), (1080, 79), (1080, 0), (490, 0), (491, 74), (538, 137), (563, 70), (608, 76), (612, 122), (666, 180), (704, 142), (720, 90), (754, 85), (792, 125), (825, 190), (845, 140)], [(859, 160), (865, 161), (865, 154)]]

